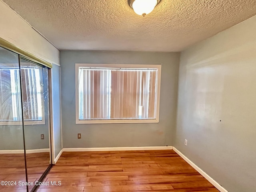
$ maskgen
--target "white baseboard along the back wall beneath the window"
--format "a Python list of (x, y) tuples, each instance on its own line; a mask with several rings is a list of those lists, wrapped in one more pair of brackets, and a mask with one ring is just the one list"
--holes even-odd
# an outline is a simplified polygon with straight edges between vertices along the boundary
[(161, 146), (161, 147), (63, 148), (63, 152), (80, 152), (80, 151), (138, 151), (138, 150), (172, 150), (172, 146)]

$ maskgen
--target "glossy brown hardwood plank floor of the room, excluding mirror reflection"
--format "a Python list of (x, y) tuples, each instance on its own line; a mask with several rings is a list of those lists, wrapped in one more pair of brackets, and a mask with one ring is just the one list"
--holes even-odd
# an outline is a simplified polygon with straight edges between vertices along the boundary
[(219, 192), (173, 150), (63, 152), (44, 181), (38, 192)]

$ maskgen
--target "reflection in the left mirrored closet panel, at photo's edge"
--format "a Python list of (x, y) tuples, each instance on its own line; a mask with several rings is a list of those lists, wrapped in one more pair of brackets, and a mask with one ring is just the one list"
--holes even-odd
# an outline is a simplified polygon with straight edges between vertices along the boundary
[(18, 54), (0, 47), (0, 191), (26, 191), (20, 90)]

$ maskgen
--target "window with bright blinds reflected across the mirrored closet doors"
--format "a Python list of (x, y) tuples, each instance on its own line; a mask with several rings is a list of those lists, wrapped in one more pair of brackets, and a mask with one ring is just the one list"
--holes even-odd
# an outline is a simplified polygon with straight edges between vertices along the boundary
[[(22, 66), (22, 99), (25, 124), (44, 124), (44, 104), (38, 67)], [(0, 123), (21, 124), (20, 70), (0, 68)]]

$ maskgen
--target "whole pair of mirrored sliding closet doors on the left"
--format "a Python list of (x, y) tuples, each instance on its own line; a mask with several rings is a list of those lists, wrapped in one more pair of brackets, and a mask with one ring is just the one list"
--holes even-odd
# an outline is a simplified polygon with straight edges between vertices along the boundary
[(0, 191), (35, 190), (51, 164), (49, 116), (48, 68), (0, 48), (0, 180), (16, 181)]

